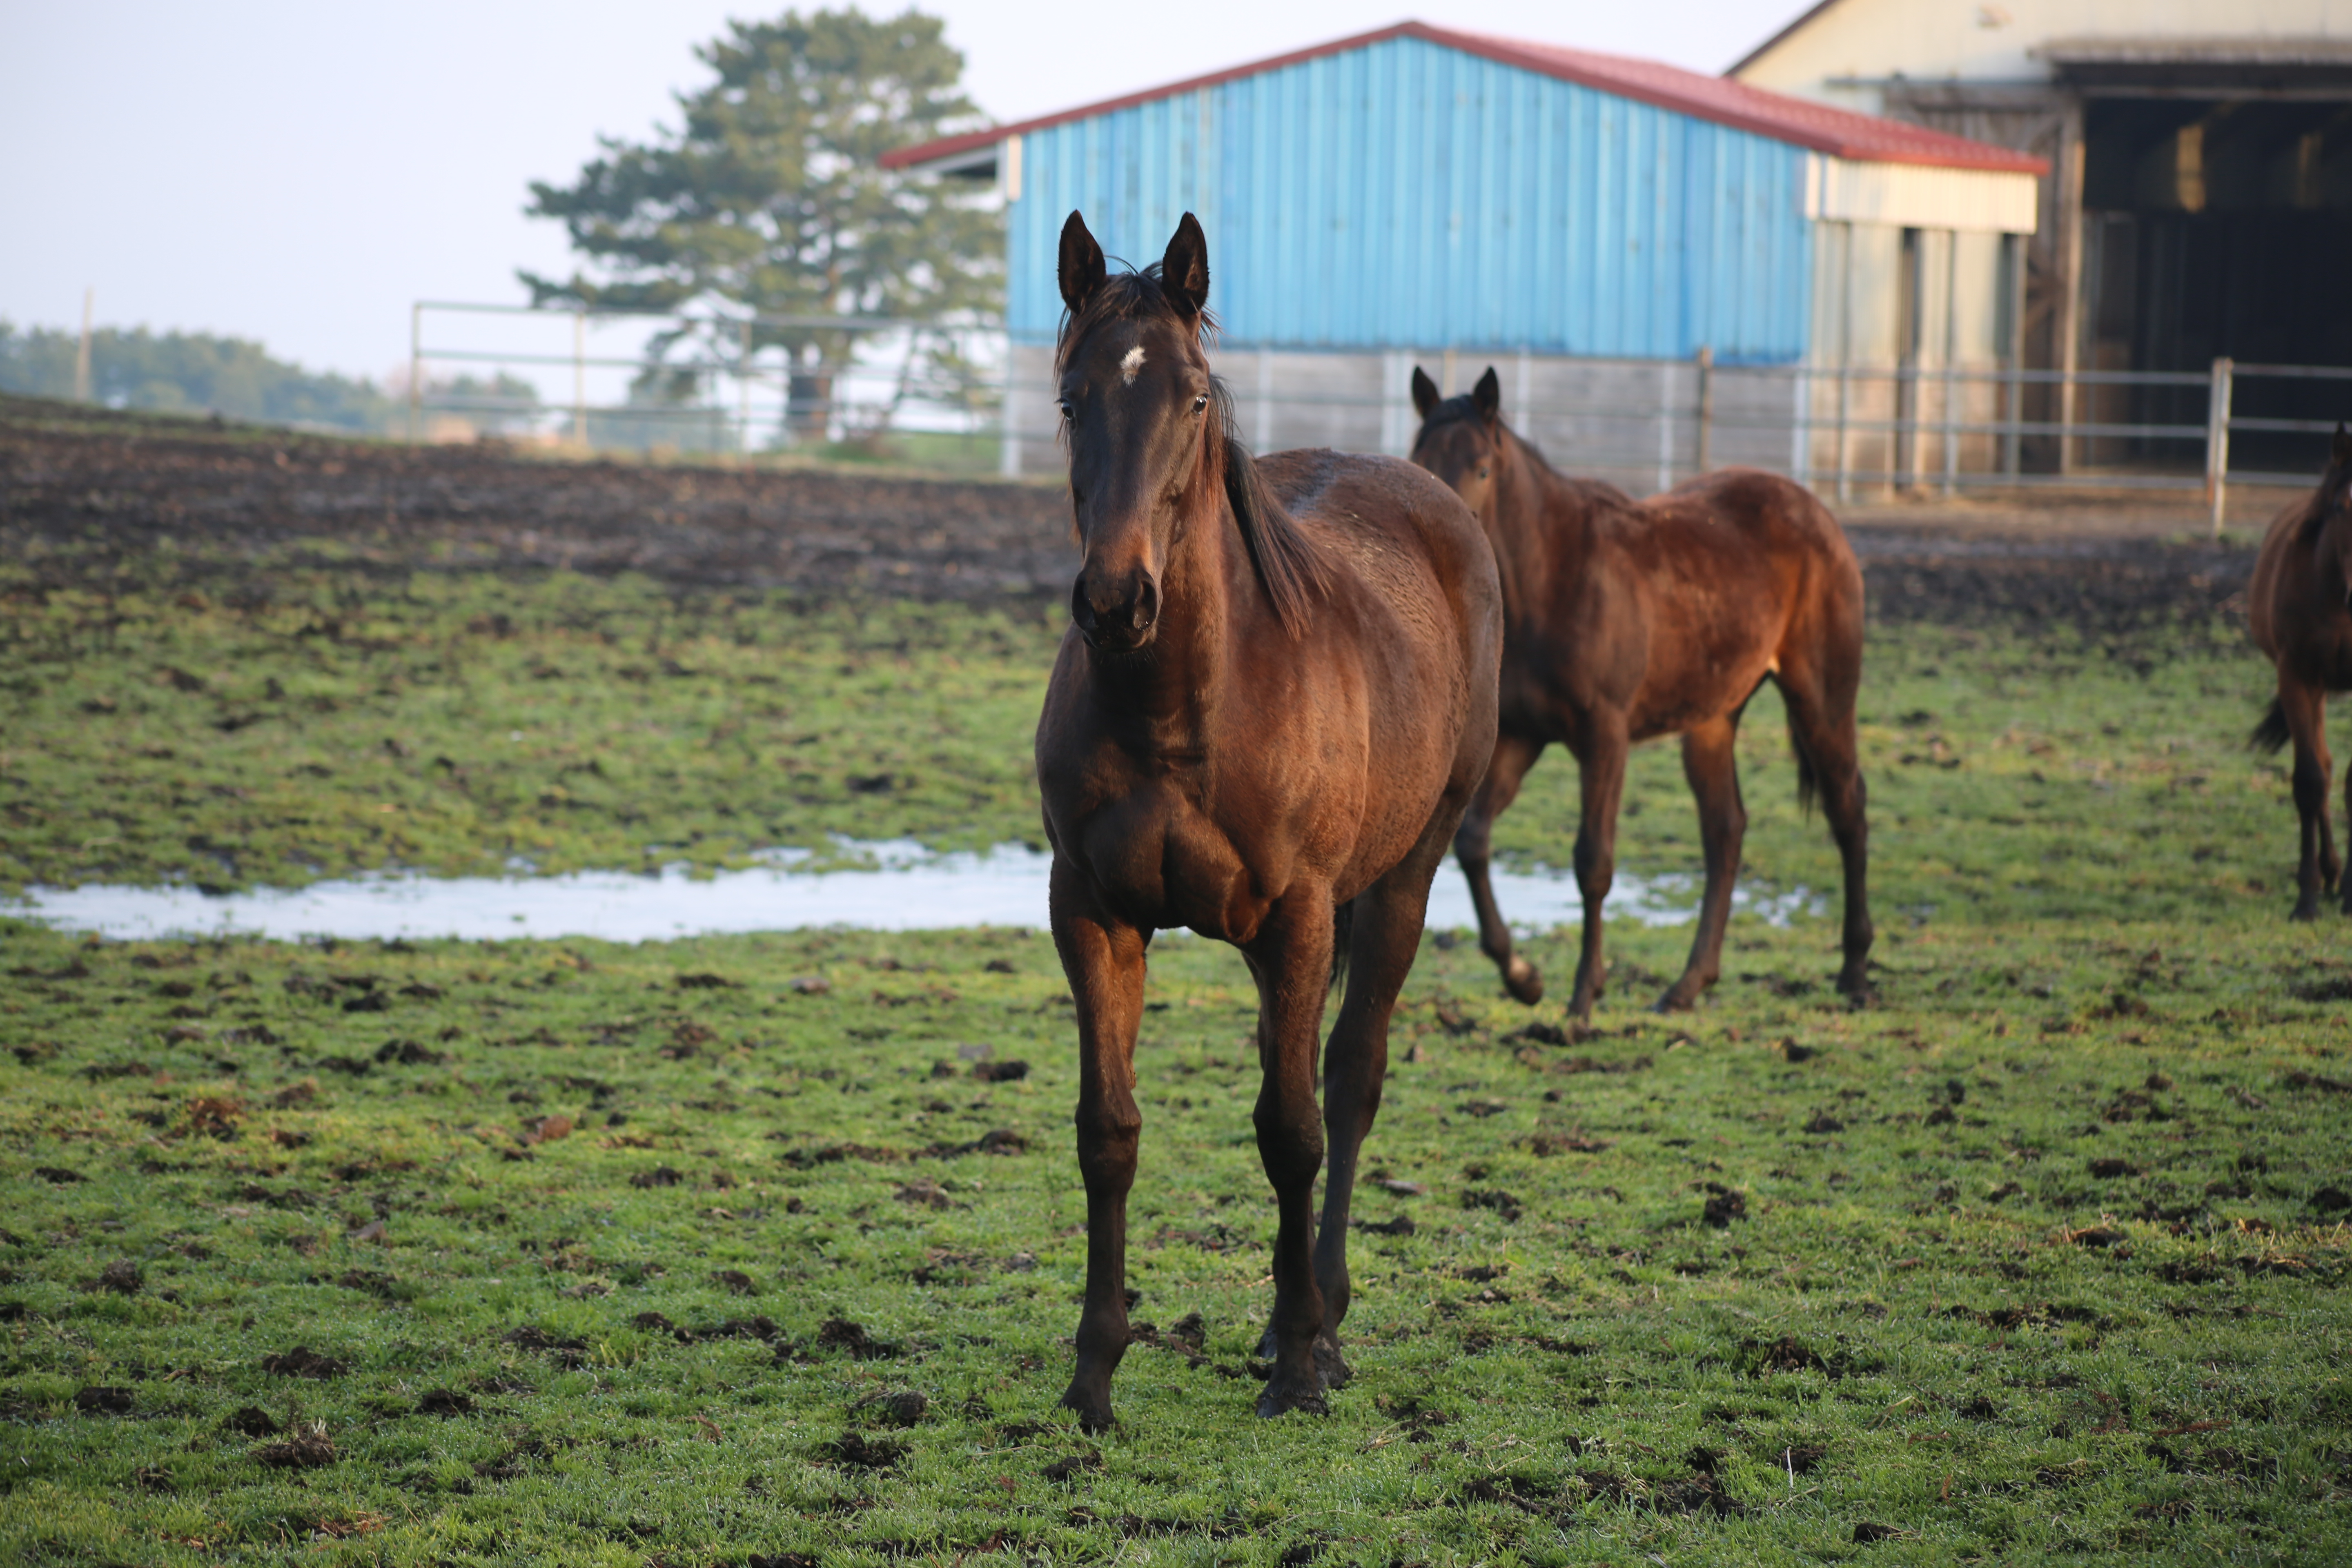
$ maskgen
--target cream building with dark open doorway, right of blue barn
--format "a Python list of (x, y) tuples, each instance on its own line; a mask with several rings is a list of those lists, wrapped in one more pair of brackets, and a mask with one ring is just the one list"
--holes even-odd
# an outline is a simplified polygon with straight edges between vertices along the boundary
[[(1823, 0), (1726, 75), (2046, 158), (2006, 322), (2027, 367), (2352, 364), (2352, 0)], [(1933, 259), (1860, 226), (1853, 244), (1889, 273), (1853, 294), (1886, 353)], [(2333, 418), (2347, 400), (2345, 381), (2249, 376), (2237, 411)], [(2197, 423), (2204, 390), (2034, 388), (2025, 416)], [(2237, 437), (2263, 468), (2312, 440)], [(2044, 470), (2190, 458), (2138, 437), (2025, 447)]]

